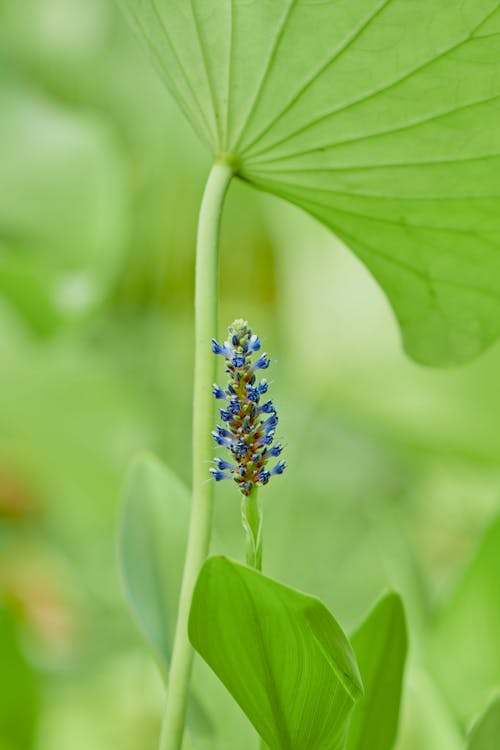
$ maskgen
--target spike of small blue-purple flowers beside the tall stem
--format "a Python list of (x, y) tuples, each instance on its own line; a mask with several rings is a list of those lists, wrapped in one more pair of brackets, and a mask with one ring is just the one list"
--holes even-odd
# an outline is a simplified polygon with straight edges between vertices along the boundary
[(229, 339), (219, 344), (212, 339), (212, 351), (226, 360), (229, 382), (226, 390), (214, 384), (213, 394), (224, 401), (220, 409), (223, 426), (217, 425), (212, 436), (217, 445), (228, 448), (231, 461), (215, 458), (216, 468), (210, 471), (216, 481), (234, 479), (244, 495), (259, 484), (267, 484), (274, 474), (282, 474), (286, 464), (278, 461), (271, 469), (269, 459), (281, 454), (282, 445), (273, 445), (278, 415), (269, 399), (261, 403), (268, 390), (267, 381), (258, 378), (259, 370), (267, 370), (271, 360), (267, 354), (254, 359), (260, 350), (259, 337), (252, 333), (245, 320), (235, 320), (229, 327)]

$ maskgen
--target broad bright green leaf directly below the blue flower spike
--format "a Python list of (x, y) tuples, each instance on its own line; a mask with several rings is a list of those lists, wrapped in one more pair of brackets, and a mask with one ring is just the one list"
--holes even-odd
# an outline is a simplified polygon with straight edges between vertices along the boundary
[(270, 750), (341, 750), (362, 692), (324, 605), (223, 557), (202, 568), (189, 636)]

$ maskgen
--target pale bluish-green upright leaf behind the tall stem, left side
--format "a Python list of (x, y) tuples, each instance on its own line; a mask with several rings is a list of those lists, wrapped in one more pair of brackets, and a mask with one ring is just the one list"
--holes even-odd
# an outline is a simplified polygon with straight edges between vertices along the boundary
[(130, 610), (166, 672), (170, 661), (189, 522), (185, 485), (142, 454), (125, 480), (119, 559)]

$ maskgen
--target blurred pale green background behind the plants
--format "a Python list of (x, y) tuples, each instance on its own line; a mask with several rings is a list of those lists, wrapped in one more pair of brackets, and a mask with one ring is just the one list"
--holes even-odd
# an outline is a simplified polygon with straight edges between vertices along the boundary
[[(111, 0), (0, 0), (0, 750), (156, 747), (116, 528), (137, 451), (189, 481), (209, 163)], [(248, 318), (276, 359), (289, 469), (265, 491), (266, 572), (348, 631), (398, 589), (398, 750), (460, 750), (500, 689), (500, 346), (459, 370), (408, 361), (349, 251), (245, 185), (221, 264), (220, 332)], [(216, 546), (241, 558), (239, 523), (218, 488)], [(200, 663), (196, 681), (206, 747), (253, 747)]]

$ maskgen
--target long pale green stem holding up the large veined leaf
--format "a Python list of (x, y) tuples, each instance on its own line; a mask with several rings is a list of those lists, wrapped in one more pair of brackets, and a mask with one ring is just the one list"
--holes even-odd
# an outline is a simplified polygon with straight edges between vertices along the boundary
[(193, 393), (193, 500), (172, 652), (167, 706), (160, 750), (180, 750), (184, 737), (193, 650), (188, 639), (191, 599), (198, 573), (208, 555), (212, 526), (213, 482), (207, 481), (212, 457), (213, 422), (211, 384), (216, 359), (210, 340), (217, 335), (218, 247), (224, 197), (232, 177), (225, 164), (214, 164), (200, 209), (196, 245), (195, 352)]

